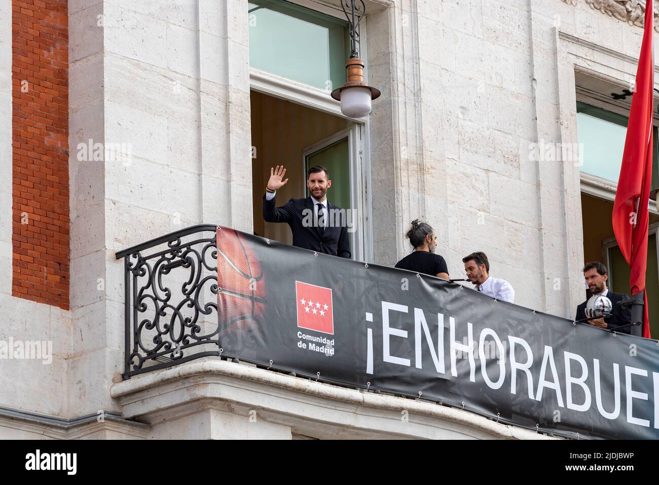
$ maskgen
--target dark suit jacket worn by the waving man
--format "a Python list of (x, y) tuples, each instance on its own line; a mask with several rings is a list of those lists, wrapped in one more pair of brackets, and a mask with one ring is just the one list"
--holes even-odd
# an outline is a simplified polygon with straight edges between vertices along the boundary
[[(310, 212), (304, 212), (304, 209)], [(331, 224), (332, 217), (331, 209), (341, 209), (328, 201), (328, 224)], [(336, 212), (335, 212), (336, 213)], [(310, 214), (310, 218), (306, 217), (306, 222), (313, 221), (314, 216), (314, 202), (311, 197), (306, 199), (291, 199), (281, 207), (275, 207), (275, 199), (268, 201), (266, 196), (263, 196), (263, 218), (266, 222), (286, 222), (293, 232), (293, 245), (303, 247), (304, 249), (311, 249), (318, 253), (331, 254), (333, 256), (345, 257), (350, 259), (350, 239), (348, 238), (348, 228), (346, 224), (345, 211), (342, 212), (342, 217), (335, 217), (333, 226), (325, 228), (322, 236), (320, 228), (313, 225), (307, 225), (302, 222), (305, 216)]]

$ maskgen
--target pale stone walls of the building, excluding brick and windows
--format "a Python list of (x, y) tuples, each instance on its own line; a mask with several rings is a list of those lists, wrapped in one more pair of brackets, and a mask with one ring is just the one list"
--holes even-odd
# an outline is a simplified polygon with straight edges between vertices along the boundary
[[(364, 143), (376, 263), (393, 265), (402, 257), (409, 222), (424, 218), (436, 228), (438, 252), (452, 277), (463, 275), (463, 255), (482, 250), (492, 274), (515, 288), (516, 303), (573, 316), (583, 300), (579, 167), (533, 160), (529, 152), (539, 141), (576, 143), (575, 71), (621, 86), (635, 75), (643, 30), (635, 20), (602, 15), (595, 3), (605, 4), (366, 1), (368, 82), (382, 90), (366, 121)], [(115, 251), (202, 222), (251, 232), (246, 10), (246, 0), (69, 1), (69, 310), (12, 296), (12, 187), (11, 178), (0, 179), (0, 307), (7, 315), (0, 338), (53, 341), (50, 365), (2, 363), (0, 406), (66, 424), (27, 424), (27, 414), (14, 412), (1, 416), (0, 435), (28, 436), (29, 428), (82, 437), (87, 432), (78, 431), (88, 426), (89, 436), (183, 437), (181, 429), (191, 424), (156, 424), (208, 418), (217, 424), (208, 437), (248, 436), (241, 428), (248, 418), (245, 406), (265, 404), (244, 384), (241, 412), (235, 413), (226, 393), (227, 386), (240, 388), (244, 375), (229, 379), (221, 377), (229, 372), (225, 368), (194, 368), (190, 375), (202, 375), (203, 405), (186, 408), (187, 414), (177, 408), (167, 415), (167, 402), (156, 402), (156, 391), (175, 387), (179, 371), (121, 383), (124, 276), (123, 263), (115, 259)], [(0, 0), (0, 27), (0, 168), (9, 174), (11, 0)], [(128, 143), (130, 158), (80, 161), (75, 148), (89, 140)], [(268, 379), (264, 372), (258, 379)], [(296, 394), (289, 384), (262, 384), (280, 385), (277, 392), (285, 394), (266, 414), (279, 416), (285, 403), (297, 400), (295, 422), (272, 418), (249, 437), (293, 437), (296, 429), (304, 430), (301, 436), (313, 434), (300, 407), (316, 392), (321, 397), (308, 404), (310, 413), (322, 399), (337, 411), (314, 414), (327, 427), (312, 437), (337, 436), (337, 430), (353, 437), (397, 436), (381, 421), (399, 414), (401, 402), (349, 404), (357, 391)], [(151, 408), (131, 404), (140, 393), (149, 401), (141, 405)], [(368, 401), (368, 395), (362, 399)], [(378, 410), (378, 418), (349, 422), (349, 405), (384, 406), (389, 415)], [(147, 424), (116, 418), (72, 426), (72, 420), (101, 410), (108, 416), (147, 416)], [(451, 416), (426, 411), (419, 411), (425, 417), (409, 437), (531, 436), (493, 431), (492, 421), (478, 421), (466, 411)], [(376, 431), (370, 434), (356, 431), (371, 425)], [(235, 433), (217, 431), (223, 426)], [(433, 431), (438, 426), (453, 431)]]

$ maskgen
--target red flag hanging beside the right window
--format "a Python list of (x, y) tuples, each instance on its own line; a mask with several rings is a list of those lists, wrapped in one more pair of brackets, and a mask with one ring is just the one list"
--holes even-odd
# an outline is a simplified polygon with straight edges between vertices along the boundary
[[(652, 108), (654, 106), (654, 1), (646, 2), (645, 30), (631, 98), (625, 151), (614, 203), (613, 226), (620, 251), (631, 268), (631, 294), (645, 290), (648, 259), (648, 202), (652, 179)], [(650, 338), (648, 298), (645, 295), (643, 337)]]

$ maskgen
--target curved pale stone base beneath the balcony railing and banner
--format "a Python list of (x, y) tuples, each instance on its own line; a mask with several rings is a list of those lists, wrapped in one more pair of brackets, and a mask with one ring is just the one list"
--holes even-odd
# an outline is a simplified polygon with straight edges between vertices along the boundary
[(153, 439), (547, 439), (465, 410), (346, 389), (225, 360), (116, 383)]

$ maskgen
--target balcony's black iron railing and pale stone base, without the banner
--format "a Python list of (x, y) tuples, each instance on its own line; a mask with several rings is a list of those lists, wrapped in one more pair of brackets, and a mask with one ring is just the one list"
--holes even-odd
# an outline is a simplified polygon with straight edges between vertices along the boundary
[(117, 253), (125, 267), (125, 372), (111, 395), (146, 437), (538, 439), (461, 408), (304, 378), (223, 355), (215, 226)]

